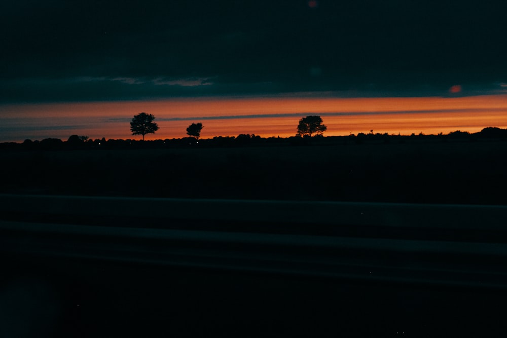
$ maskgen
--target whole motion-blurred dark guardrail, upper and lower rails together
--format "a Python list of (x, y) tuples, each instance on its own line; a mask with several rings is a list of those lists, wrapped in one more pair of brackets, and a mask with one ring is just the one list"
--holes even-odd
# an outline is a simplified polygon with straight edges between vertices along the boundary
[(503, 206), (0, 195), (0, 213), (10, 255), (507, 288)]

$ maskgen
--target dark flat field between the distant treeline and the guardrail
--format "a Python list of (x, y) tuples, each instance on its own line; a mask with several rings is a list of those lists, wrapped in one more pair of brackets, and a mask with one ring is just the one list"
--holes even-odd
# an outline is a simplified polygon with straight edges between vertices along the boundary
[(507, 204), (507, 142), (4, 150), (2, 193)]

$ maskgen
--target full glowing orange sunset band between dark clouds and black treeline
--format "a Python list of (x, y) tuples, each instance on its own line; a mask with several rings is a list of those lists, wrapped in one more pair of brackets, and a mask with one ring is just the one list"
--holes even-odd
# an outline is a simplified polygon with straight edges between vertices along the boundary
[[(152, 101), (77, 102), (4, 105), (0, 141), (56, 137), (71, 134), (95, 138), (138, 138), (130, 133), (130, 119), (145, 111), (156, 117), (160, 129), (147, 139), (180, 138), (193, 122), (201, 122), (203, 138), (237, 136), (294, 136), (299, 119), (321, 115), (324, 135), (360, 132), (438, 134), (485, 127), (507, 128), (507, 95), (409, 98), (236, 97), (181, 98)], [(301, 116), (269, 117), (272, 114)], [(332, 114), (332, 115), (329, 115)], [(199, 119), (266, 115), (265, 117)], [(185, 120), (167, 121), (183, 118)], [(194, 119), (195, 118), (195, 119)], [(0, 127), (1, 128), (1, 127)]]

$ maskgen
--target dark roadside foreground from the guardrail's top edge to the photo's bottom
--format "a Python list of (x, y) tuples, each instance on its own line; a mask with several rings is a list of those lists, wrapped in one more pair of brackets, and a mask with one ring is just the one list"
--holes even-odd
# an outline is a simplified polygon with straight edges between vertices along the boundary
[(3, 337), (507, 328), (505, 207), (0, 198)]

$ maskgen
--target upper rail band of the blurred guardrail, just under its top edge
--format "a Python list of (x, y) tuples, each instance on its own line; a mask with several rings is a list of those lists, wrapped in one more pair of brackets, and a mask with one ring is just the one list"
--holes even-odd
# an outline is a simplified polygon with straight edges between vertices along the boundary
[(507, 222), (506, 206), (2, 194), (0, 212), (488, 230), (503, 230)]

